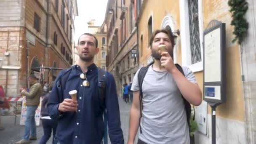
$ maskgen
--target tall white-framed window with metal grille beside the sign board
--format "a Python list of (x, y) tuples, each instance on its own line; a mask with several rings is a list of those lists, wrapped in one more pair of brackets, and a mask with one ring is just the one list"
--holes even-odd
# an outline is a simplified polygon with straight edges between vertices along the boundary
[(181, 31), (182, 65), (192, 72), (203, 70), (203, 1), (182, 0), (179, 4)]

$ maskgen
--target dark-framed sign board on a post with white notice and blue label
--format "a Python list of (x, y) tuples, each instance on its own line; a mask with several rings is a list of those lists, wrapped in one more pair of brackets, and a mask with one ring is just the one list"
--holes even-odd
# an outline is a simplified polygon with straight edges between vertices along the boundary
[(204, 31), (204, 100), (210, 105), (226, 101), (225, 96), (225, 24), (213, 20)]

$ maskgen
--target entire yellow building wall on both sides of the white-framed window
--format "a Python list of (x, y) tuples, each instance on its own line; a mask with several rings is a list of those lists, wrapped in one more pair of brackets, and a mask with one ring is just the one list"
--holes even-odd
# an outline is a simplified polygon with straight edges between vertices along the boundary
[[(203, 29), (208, 23), (216, 19), (226, 23), (226, 96), (227, 102), (216, 108), (218, 117), (245, 121), (244, 102), (240, 69), (240, 46), (232, 43), (234, 35), (233, 27), (230, 25), (232, 17), (229, 12), (227, 0), (202, 0), (203, 1)], [(179, 1), (178, 0), (144, 0), (145, 7), (139, 18), (139, 64), (146, 66), (147, 59), (151, 55), (148, 45), (148, 20), (152, 16), (152, 27), (161, 28), (164, 16), (170, 15), (175, 20), (176, 29), (180, 27)], [(143, 50), (141, 53), (141, 35), (143, 35)], [(177, 48), (177, 61), (181, 64), (181, 40), (179, 37)], [(195, 72), (196, 80), (203, 91), (203, 72)], [(208, 106), (208, 114), (211, 107)]]

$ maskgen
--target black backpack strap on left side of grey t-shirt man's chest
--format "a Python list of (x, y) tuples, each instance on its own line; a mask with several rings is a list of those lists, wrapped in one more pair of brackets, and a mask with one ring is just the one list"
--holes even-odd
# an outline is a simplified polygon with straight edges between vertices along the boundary
[(148, 65), (147, 67), (141, 67), (141, 69), (139, 70), (139, 74), (138, 74), (138, 81), (139, 81), (139, 105), (140, 105), (140, 117), (139, 117), (139, 128), (140, 128), (140, 132), (142, 133), (141, 130), (141, 117), (142, 117), (142, 109), (143, 109), (143, 104), (142, 104), (142, 98), (143, 98), (143, 92), (142, 92), (142, 83), (144, 80), (145, 75), (147, 74), (147, 70), (149, 69)]

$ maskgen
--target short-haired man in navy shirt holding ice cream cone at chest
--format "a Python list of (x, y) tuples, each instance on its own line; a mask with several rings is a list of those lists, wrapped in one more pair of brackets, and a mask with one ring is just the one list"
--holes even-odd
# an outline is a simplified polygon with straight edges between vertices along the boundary
[[(124, 143), (115, 80), (109, 72), (104, 75), (105, 90), (99, 91), (100, 71), (93, 63), (98, 52), (96, 37), (90, 33), (81, 35), (77, 46), (77, 65), (62, 70), (56, 78), (48, 101), (50, 117), (58, 120), (56, 144), (101, 144), (104, 135), (103, 105), (107, 109), (111, 143)], [(67, 72), (69, 75), (63, 85)], [(76, 100), (69, 96), (69, 91), (73, 90), (77, 91)], [(101, 92), (105, 93), (104, 101), (100, 97)]]

